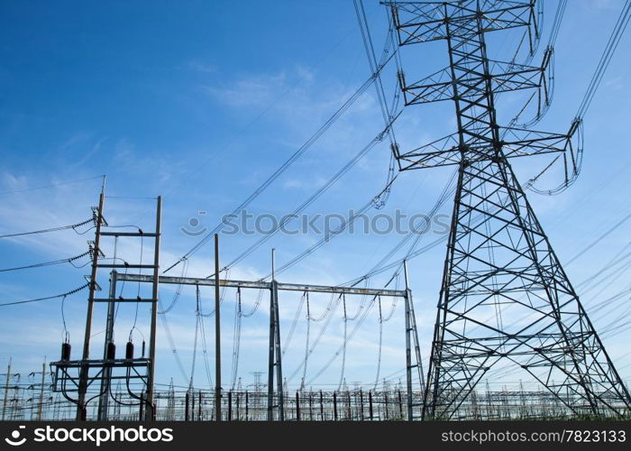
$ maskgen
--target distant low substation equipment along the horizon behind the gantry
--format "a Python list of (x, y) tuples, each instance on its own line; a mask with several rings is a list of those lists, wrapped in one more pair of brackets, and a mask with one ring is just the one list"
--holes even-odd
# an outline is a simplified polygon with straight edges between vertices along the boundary
[[(0, 419), (6, 421), (68, 421), (76, 418), (77, 406), (50, 384), (54, 373), (47, 364), (42, 371), (29, 374), (0, 373)], [(265, 421), (268, 418), (268, 394), (262, 373), (255, 373), (255, 382), (224, 391), (222, 418), (224, 421)], [(136, 398), (130, 396), (126, 382), (117, 380), (111, 389), (115, 401), (110, 403), (107, 419), (138, 421), (144, 412)], [(141, 382), (130, 382), (142, 390)], [(88, 389), (88, 395), (98, 396), (99, 388)], [(413, 391), (414, 402), (423, 401), (423, 391)], [(519, 387), (517, 390), (487, 383), (471, 391), (454, 419), (575, 419), (562, 400), (544, 387)], [(613, 402), (613, 400), (612, 400)], [(176, 387), (172, 383), (154, 391), (155, 419), (158, 421), (215, 421), (215, 391)], [(406, 390), (403, 382), (362, 389), (343, 386), (336, 391), (283, 391), (286, 421), (384, 421), (405, 420)], [(98, 418), (99, 405), (87, 405), (87, 419)], [(623, 406), (620, 406), (622, 408)], [(277, 417), (278, 417), (278, 411)]]

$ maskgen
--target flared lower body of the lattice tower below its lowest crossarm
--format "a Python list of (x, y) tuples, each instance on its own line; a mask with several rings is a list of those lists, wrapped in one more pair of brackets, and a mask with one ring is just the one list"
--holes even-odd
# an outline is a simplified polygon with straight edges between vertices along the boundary
[[(482, 216), (476, 224), (473, 211)], [(445, 266), (425, 394), (431, 418), (452, 418), (506, 357), (575, 415), (621, 415), (612, 400), (628, 408), (626, 387), (506, 159), (462, 163)], [(517, 323), (503, 322), (495, 309), (503, 304)]]

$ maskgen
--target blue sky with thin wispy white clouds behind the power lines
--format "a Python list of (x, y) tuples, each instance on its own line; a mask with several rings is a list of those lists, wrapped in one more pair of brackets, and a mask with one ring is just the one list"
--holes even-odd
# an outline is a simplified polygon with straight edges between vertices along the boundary
[[(549, 32), (556, 2), (544, 7), (544, 29)], [(564, 132), (575, 114), (622, 0), (572, 1), (556, 45), (554, 103), (542, 123), (544, 131)], [(382, 48), (387, 15), (378, 2), (365, 1), (375, 47)], [(0, 233), (10, 234), (78, 223), (96, 205), (100, 179), (45, 185), (107, 175), (106, 214), (111, 225), (151, 229), (152, 204), (162, 195), (163, 268), (186, 253), (198, 238), (182, 233), (197, 217), (198, 229), (213, 227), (256, 189), (289, 155), (370, 76), (352, 1), (319, 2), (0, 2)], [(547, 34), (544, 34), (544, 42)], [(585, 118), (585, 157), (581, 177), (562, 194), (544, 197), (529, 193), (544, 229), (562, 262), (567, 262), (599, 235), (631, 213), (626, 152), (630, 95), (631, 45), (624, 36), (592, 106)], [(489, 41), (491, 44), (501, 42)], [(502, 44), (503, 45), (503, 44)], [(543, 49), (542, 45), (542, 49)], [(443, 49), (444, 50), (444, 49)], [(426, 53), (424, 53), (426, 52)], [(421, 78), (446, 61), (444, 51), (422, 46), (402, 54), (409, 78)], [(540, 60), (540, 54), (535, 61)], [(394, 93), (393, 68), (384, 72), (388, 96)], [(503, 102), (503, 103), (502, 103)], [(500, 121), (508, 122), (502, 108), (511, 98), (500, 98)], [(453, 106), (410, 106), (395, 130), (402, 148), (410, 149), (452, 133)], [(283, 215), (292, 211), (343, 167), (383, 128), (379, 104), (370, 88), (292, 167), (249, 208), (252, 213)], [(315, 213), (344, 213), (359, 208), (383, 188), (389, 164), (386, 142), (370, 151), (307, 209)], [(546, 160), (516, 161), (523, 181)], [(449, 179), (451, 170), (418, 170), (401, 174), (387, 207), (408, 214), (427, 212)], [(553, 176), (558, 176), (558, 171)], [(553, 183), (553, 180), (544, 180)], [(450, 202), (443, 208), (451, 211)], [(205, 215), (198, 215), (205, 211)], [(370, 215), (376, 212), (371, 211)], [(631, 240), (626, 223), (608, 235), (566, 269), (575, 285), (589, 278)], [(30, 235), (0, 240), (2, 267), (47, 262), (86, 251), (91, 231)], [(228, 262), (257, 236), (222, 237), (222, 260)], [(277, 248), (279, 264), (315, 243), (319, 236), (275, 236), (240, 262), (231, 277), (256, 279), (270, 271), (270, 248)], [(342, 235), (285, 272), (282, 281), (335, 284), (370, 270), (398, 235)], [(429, 242), (431, 237), (426, 239)], [(425, 238), (424, 238), (425, 240)], [(111, 244), (105, 253), (111, 255)], [(151, 254), (144, 243), (143, 258)], [(118, 249), (130, 261), (140, 256), (137, 242), (121, 242)], [(398, 254), (400, 257), (400, 253)], [(212, 271), (213, 253), (204, 246), (188, 265), (187, 275)], [(429, 352), (434, 306), (439, 289), (444, 246), (441, 244), (410, 262), (410, 280), (422, 353)], [(625, 261), (626, 262), (626, 261)], [(624, 262), (623, 262), (624, 263)], [(587, 290), (590, 305), (628, 289), (628, 271)], [(4, 302), (58, 294), (80, 286), (87, 269), (66, 265), (0, 272)], [(180, 267), (172, 271), (180, 273)], [(370, 279), (382, 286), (390, 272)], [(106, 274), (100, 280), (106, 285)], [(125, 290), (134, 293), (136, 286)], [(144, 290), (144, 289), (142, 289)], [(162, 287), (169, 304), (174, 287)], [(581, 290), (579, 290), (581, 296)], [(135, 296), (135, 294), (134, 294)], [(256, 293), (243, 295), (251, 306)], [(284, 338), (294, 318), (299, 294), (281, 302)], [(224, 380), (231, 379), (234, 293), (224, 303)], [(202, 290), (206, 311), (213, 300)], [(267, 299), (265, 299), (267, 300)], [(328, 298), (312, 299), (314, 315), (324, 311)], [(611, 303), (592, 316), (598, 328), (628, 312), (629, 297)], [(359, 299), (348, 299), (349, 310)], [(384, 300), (384, 310), (389, 300)], [(86, 292), (66, 300), (64, 313), (78, 356)], [(137, 321), (148, 332), (146, 308)], [(169, 312), (169, 327), (185, 373), (192, 367), (195, 336), (195, 292), (185, 288)], [(265, 302), (251, 318), (243, 318), (242, 352), (238, 377), (251, 383), (251, 372), (265, 371), (267, 345)], [(352, 313), (349, 312), (349, 315)], [(133, 323), (134, 308), (123, 306), (116, 322), (116, 343), (122, 349)], [(9, 357), (19, 371), (31, 372), (46, 356), (57, 359), (62, 336), (59, 299), (5, 307), (0, 327), (0, 365)], [(302, 313), (304, 318), (304, 311)], [(93, 330), (103, 329), (102, 312)], [(304, 355), (306, 322), (297, 323), (285, 358), (287, 374), (295, 373)], [(206, 318), (207, 345), (213, 347), (212, 318)], [(312, 340), (322, 323), (311, 326)], [(354, 327), (348, 323), (349, 330)], [(343, 322), (334, 313), (322, 342), (310, 357), (315, 375), (342, 343)], [(343, 377), (349, 382), (374, 383), (379, 335), (376, 309), (348, 345)], [(628, 331), (604, 335), (609, 353), (627, 381), (631, 355), (625, 345)], [(93, 338), (92, 353), (101, 352), (103, 335)], [(134, 341), (140, 341), (134, 336)], [(404, 364), (403, 315), (399, 304), (383, 326), (380, 378), (398, 382)], [(201, 350), (197, 355), (196, 385), (207, 386)], [(169, 342), (160, 328), (159, 382), (187, 383), (174, 363)], [(207, 354), (212, 359), (212, 351)], [(314, 385), (336, 386), (342, 373), (341, 356)], [(290, 383), (299, 382), (299, 375)], [(515, 380), (508, 380), (515, 382)]]

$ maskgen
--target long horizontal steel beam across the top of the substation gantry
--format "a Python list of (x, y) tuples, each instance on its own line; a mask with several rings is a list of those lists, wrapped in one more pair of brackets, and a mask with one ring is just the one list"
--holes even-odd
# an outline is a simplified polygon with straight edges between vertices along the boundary
[[(145, 274), (117, 274), (117, 281), (137, 281), (152, 283), (153, 276)], [(199, 286), (215, 286), (215, 279), (197, 279), (194, 277), (167, 277), (160, 276), (160, 283), (170, 283), (175, 285), (199, 285)], [(266, 281), (232, 281), (219, 280), (220, 287), (227, 288), (251, 288), (258, 290), (271, 290), (271, 282)], [(302, 283), (278, 283), (278, 289), (284, 291), (310, 291), (317, 293), (337, 293), (337, 294), (357, 294), (368, 296), (389, 296), (404, 298), (405, 290), (385, 290), (385, 289), (364, 289), (355, 287), (341, 287), (331, 285), (306, 285)]]

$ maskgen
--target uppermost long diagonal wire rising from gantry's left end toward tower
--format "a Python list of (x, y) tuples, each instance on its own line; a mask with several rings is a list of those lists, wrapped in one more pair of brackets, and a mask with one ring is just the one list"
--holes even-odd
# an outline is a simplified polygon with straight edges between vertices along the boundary
[[(387, 54), (387, 53), (386, 53)], [(330, 127), (331, 125), (334, 124), (334, 122), (341, 116), (343, 115), (343, 113), (350, 107), (352, 106), (352, 104), (359, 98), (361, 97), (361, 95), (370, 87), (370, 85), (372, 85), (372, 83), (375, 81), (375, 79), (379, 76), (380, 71), (389, 63), (389, 60), (392, 59), (392, 55), (390, 55), (388, 58), (383, 58), (380, 66), (377, 68), (377, 71), (373, 74), (370, 75), (370, 78), (368, 78), (366, 81), (363, 82), (363, 84), (361, 85), (361, 87), (359, 87), (353, 94), (351, 97), (349, 97), (342, 106), (340, 106), (333, 115), (331, 115), (326, 121), (325, 124), (323, 124), (322, 126), (320, 126), (320, 128), (313, 134), (311, 135), (307, 140), (306, 143), (303, 143), (296, 152), (294, 152), (287, 161), (283, 162), (280, 167), (275, 170), (268, 179), (266, 179), (257, 189), (255, 189), (250, 196), (248, 196), (247, 198), (245, 198), (242, 203), (233, 209), (233, 213), (232, 215), (236, 215), (237, 213), (239, 213), (239, 211), (241, 211), (243, 208), (249, 206), (251, 204), (251, 202), (255, 199), (258, 198), (261, 193), (267, 189), (272, 182), (274, 182), (274, 180), (278, 179), (279, 176), (285, 172), (285, 170), (288, 170), (288, 168), (295, 162), (297, 161), (298, 158), (300, 158), (300, 156), (306, 152), (319, 138), (320, 136), (322, 136)], [(210, 232), (208, 232), (208, 234), (206, 234), (196, 245), (194, 245), (187, 253), (185, 253), (182, 257), (180, 257), (180, 259), (178, 260), (178, 262), (173, 263), (171, 266), (169, 266), (169, 268), (167, 268), (164, 273), (169, 272), (171, 269), (175, 268), (180, 262), (183, 262), (185, 259), (187, 259), (188, 257), (190, 257), (191, 255), (193, 255), (194, 253), (197, 253), (197, 251), (204, 245), (206, 244), (211, 238), (212, 236), (214, 236), (216, 233), (220, 232), (221, 230), (223, 230), (224, 228), (224, 222), (220, 223), (219, 225), (215, 226), (215, 228), (213, 228)]]

